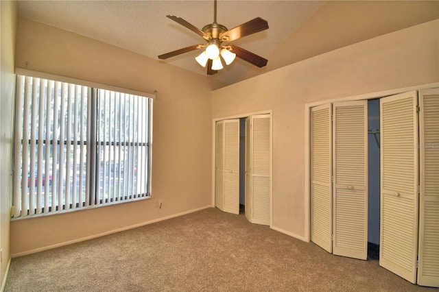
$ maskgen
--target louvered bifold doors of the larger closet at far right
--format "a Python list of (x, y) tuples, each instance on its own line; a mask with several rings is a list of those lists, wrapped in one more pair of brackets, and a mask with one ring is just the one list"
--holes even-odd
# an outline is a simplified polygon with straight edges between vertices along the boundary
[[(311, 241), (368, 257), (368, 103), (311, 108)], [(439, 88), (379, 99), (379, 265), (439, 287)]]

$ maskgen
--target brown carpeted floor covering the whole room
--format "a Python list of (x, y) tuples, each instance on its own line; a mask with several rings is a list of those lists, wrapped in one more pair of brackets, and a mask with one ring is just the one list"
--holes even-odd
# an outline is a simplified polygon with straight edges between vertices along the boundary
[(434, 291), (209, 208), (11, 263), (5, 291)]

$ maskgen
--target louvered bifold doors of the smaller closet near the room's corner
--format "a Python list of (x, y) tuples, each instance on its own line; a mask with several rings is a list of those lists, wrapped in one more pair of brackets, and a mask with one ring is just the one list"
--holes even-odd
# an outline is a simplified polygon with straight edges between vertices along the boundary
[(215, 123), (215, 206), (239, 214), (239, 173), (245, 172), (245, 215), (270, 225), (272, 197), (271, 114), (245, 118), (245, 162), (239, 165), (239, 119)]

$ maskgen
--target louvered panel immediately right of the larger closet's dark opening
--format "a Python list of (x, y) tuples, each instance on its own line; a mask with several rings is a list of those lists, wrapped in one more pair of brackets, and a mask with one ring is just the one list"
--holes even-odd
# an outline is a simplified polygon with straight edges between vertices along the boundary
[(380, 99), (379, 265), (414, 283), (418, 254), (416, 91)]

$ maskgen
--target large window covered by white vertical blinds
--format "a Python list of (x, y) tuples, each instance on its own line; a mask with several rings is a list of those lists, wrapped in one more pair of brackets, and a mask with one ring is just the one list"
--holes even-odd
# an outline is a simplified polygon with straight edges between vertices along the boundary
[(17, 75), (14, 217), (150, 197), (152, 99)]

